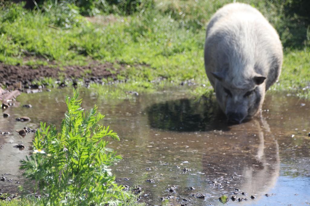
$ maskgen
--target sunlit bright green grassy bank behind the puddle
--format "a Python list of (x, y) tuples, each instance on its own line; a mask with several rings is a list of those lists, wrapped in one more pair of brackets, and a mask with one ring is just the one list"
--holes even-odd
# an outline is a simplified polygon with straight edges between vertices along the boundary
[[(34, 69), (112, 62), (116, 69), (128, 65), (117, 74), (118, 80), (126, 79), (122, 87), (128, 90), (154, 90), (188, 80), (197, 85), (198, 95), (212, 90), (203, 65), (205, 28), (211, 15), (231, 1), (142, 2), (131, 15), (109, 10), (87, 18), (69, 4), (42, 4), (33, 11), (2, 5), (0, 61)], [(284, 64), (279, 85), (272, 90), (308, 98), (309, 90), (303, 90), (310, 85), (307, 25), (300, 25), (296, 16), (286, 16), (281, 1), (239, 2), (259, 9), (280, 34)]]

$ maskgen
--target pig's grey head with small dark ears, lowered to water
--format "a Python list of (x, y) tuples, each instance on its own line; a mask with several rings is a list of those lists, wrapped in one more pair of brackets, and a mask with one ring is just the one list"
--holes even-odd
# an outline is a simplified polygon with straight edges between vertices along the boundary
[(229, 122), (240, 124), (259, 111), (265, 98), (266, 77), (255, 73), (250, 78), (243, 78), (242, 81), (239, 79), (238, 82), (236, 78), (230, 79), (221, 73), (212, 75), (217, 79), (216, 99)]

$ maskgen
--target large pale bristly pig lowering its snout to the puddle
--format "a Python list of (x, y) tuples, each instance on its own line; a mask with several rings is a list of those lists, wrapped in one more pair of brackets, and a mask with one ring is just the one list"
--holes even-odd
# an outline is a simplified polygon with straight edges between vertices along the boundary
[(265, 92), (279, 78), (282, 44), (257, 9), (231, 3), (208, 23), (204, 59), (219, 107), (229, 122), (240, 124), (259, 113)]

